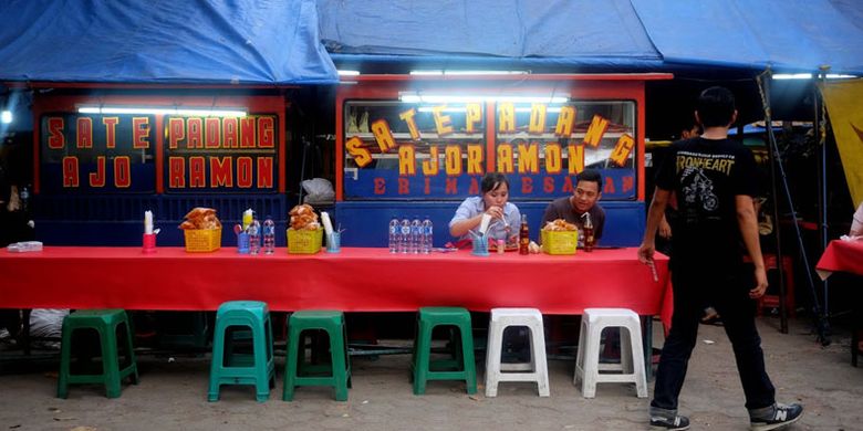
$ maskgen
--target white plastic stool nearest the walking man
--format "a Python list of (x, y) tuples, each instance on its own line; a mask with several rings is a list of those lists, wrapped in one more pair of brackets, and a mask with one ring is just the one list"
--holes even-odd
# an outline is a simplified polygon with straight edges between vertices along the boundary
[[(600, 338), (602, 329), (620, 327), (621, 364), (600, 364)], [(606, 340), (609, 343), (609, 340)], [(603, 371), (623, 371), (622, 374), (600, 374)], [(647, 377), (644, 370), (644, 348), (642, 347), (642, 323), (635, 312), (626, 308), (585, 308), (581, 317), (579, 354), (575, 359), (578, 385), (581, 377), (581, 393), (584, 398), (596, 396), (596, 383), (633, 382), (638, 398), (647, 398)]]

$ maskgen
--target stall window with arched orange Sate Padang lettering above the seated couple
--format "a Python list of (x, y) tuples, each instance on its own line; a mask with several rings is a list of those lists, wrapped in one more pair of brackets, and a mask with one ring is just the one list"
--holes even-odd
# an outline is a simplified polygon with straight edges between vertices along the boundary
[(602, 171), (604, 198), (636, 192), (628, 101), (349, 101), (345, 108), (346, 199), (462, 198), (479, 193), (487, 171), (508, 175), (514, 198), (547, 199), (572, 193), (586, 167)]

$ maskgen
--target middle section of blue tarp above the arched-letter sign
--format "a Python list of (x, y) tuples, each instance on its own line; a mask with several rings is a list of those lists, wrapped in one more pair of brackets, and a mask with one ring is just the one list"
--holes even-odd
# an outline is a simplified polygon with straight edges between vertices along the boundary
[(333, 53), (661, 60), (628, 0), (319, 1)]

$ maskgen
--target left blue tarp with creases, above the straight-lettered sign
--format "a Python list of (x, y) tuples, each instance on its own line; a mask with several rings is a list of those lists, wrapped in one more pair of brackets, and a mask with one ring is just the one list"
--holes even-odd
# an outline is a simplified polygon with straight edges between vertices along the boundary
[(0, 22), (0, 81), (339, 81), (314, 0), (13, 0)]

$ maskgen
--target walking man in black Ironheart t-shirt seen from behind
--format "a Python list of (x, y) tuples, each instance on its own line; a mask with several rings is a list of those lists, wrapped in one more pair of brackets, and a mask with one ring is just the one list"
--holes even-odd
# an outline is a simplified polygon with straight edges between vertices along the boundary
[[(659, 166), (647, 229), (638, 249), (638, 259), (653, 264), (656, 229), (669, 196), (676, 192), (678, 218), (672, 238), (674, 316), (656, 374), (651, 425), (662, 430), (689, 428), (689, 420), (677, 414), (677, 399), (698, 335), (701, 308), (709, 303), (722, 316), (734, 346), (751, 429), (779, 429), (800, 419), (803, 408), (776, 402), (755, 325), (752, 299), (767, 290), (752, 204), (757, 195), (755, 158), (740, 143), (728, 139), (728, 127), (737, 119), (731, 92), (722, 87), (705, 90), (695, 117), (704, 134), (675, 143)], [(744, 253), (755, 263), (755, 280), (752, 267), (742, 262)]]

